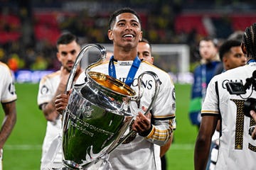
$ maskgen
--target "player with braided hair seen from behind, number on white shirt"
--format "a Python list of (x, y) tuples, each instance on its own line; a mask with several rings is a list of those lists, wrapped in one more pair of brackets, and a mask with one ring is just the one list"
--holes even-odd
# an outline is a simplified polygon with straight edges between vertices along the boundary
[(255, 169), (256, 141), (248, 134), (255, 121), (244, 115), (246, 98), (256, 98), (253, 87), (246, 94), (230, 94), (227, 82), (241, 81), (245, 84), (256, 69), (256, 23), (245, 29), (242, 40), (242, 52), (247, 64), (230, 69), (211, 79), (201, 110), (201, 127), (196, 140), (194, 168), (206, 169), (210, 141), (220, 119), (220, 148), (215, 169)]

